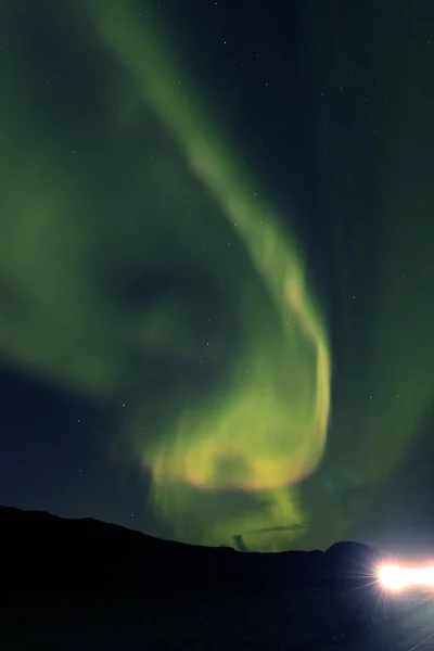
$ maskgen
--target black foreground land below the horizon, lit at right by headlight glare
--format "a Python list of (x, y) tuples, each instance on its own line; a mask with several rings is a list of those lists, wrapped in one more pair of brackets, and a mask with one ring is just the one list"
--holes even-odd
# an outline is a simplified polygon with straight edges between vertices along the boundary
[(431, 601), (387, 600), (354, 542), (242, 553), (9, 508), (0, 535), (1, 651), (434, 649)]

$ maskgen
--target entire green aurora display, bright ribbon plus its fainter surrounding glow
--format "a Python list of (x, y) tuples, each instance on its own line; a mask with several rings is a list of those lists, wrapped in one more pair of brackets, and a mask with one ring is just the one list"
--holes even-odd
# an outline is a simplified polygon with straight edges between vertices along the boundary
[[(374, 279), (359, 291), (341, 282), (332, 348), (303, 248), (283, 226), (291, 215), (257, 197), (241, 153), (216, 137), (164, 25), (148, 11), (138, 21), (126, 0), (92, 0), (61, 20), (63, 11), (41, 20), (61, 22), (78, 73), (55, 91), (51, 79), (43, 97), (31, 86), (31, 39), (27, 58), (2, 46), (1, 355), (119, 406), (107, 447), (151, 470), (152, 505), (179, 539), (327, 545), (354, 525), (342, 490), (391, 476), (434, 396), (434, 196), (421, 163), (434, 144), (433, 92), (418, 55), (403, 56), (412, 94), (394, 124), (385, 110), (366, 163), (388, 170), (375, 187), (378, 220), (367, 226), (360, 193), (342, 206), (327, 166), (318, 173), (341, 267), (355, 277), (372, 259)], [(321, 56), (337, 77), (350, 29), (336, 26), (339, 60), (312, 38), (312, 69)], [(381, 38), (378, 75), (393, 84), (399, 36)], [(337, 108), (318, 108), (317, 125)], [(330, 144), (336, 159), (356, 161), (352, 138)], [(360, 213), (349, 242), (347, 209)], [(366, 348), (358, 368), (348, 361), (355, 341)]]

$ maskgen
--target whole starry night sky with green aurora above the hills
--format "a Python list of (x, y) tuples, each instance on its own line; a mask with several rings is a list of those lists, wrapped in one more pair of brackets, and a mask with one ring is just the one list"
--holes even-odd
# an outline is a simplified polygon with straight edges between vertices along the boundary
[(0, 503), (434, 535), (432, 0), (0, 3)]

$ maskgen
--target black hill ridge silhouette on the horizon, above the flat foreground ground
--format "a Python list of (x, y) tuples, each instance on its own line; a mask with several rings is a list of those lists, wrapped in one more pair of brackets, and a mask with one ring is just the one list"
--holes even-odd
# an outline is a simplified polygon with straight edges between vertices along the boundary
[(328, 551), (255, 553), (158, 539), (92, 519), (0, 507), (2, 593), (118, 595), (288, 591), (372, 579), (376, 553), (356, 542)]

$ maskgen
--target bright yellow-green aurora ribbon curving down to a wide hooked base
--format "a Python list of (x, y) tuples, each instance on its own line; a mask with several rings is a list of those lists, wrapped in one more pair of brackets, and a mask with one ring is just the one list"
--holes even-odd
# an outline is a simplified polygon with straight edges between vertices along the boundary
[[(227, 144), (213, 138), (201, 102), (179, 92), (176, 58), (163, 48), (156, 23), (148, 15), (139, 22), (126, 2), (97, 1), (92, 12), (97, 29), (136, 79), (143, 102), (181, 144), (189, 168), (243, 242), (271, 305), (257, 304), (246, 289), (247, 332), (231, 391), (215, 408), (186, 407), (170, 436), (152, 444), (139, 438), (137, 452), (152, 468), (155, 503), (181, 536), (189, 512), (201, 520), (199, 528), (209, 544), (228, 542), (242, 533), (247, 544), (269, 547), (269, 536), (254, 542), (248, 532), (303, 525), (305, 515), (291, 486), (316, 469), (324, 449), (331, 375), (324, 323), (306, 286), (296, 243), (256, 201), (251, 179), (241, 175)], [(261, 309), (275, 310), (276, 323), (268, 332), (256, 316)], [(200, 493), (237, 489), (255, 493), (254, 501), (266, 506), (232, 514), (226, 498), (220, 508), (200, 509)], [(288, 537), (286, 531), (286, 545)]]

